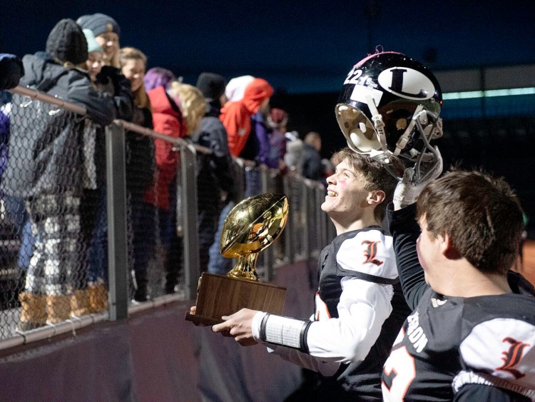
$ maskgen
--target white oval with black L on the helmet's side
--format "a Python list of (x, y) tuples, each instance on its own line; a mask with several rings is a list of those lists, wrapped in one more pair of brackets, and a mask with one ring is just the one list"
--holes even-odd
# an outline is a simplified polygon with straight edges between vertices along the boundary
[(414, 101), (431, 99), (435, 91), (427, 76), (408, 67), (386, 69), (379, 74), (377, 81), (385, 91)]

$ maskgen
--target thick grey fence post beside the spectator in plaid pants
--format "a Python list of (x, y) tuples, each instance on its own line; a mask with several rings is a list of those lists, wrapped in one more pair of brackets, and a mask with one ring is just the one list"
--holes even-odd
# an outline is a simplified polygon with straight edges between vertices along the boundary
[(128, 316), (128, 239), (126, 231), (125, 130), (106, 127), (106, 196), (108, 206), (108, 298), (110, 319)]

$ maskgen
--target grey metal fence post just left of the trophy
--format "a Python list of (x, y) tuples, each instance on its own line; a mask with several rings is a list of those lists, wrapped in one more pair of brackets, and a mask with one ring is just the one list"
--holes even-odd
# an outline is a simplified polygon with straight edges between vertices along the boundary
[(197, 227), (197, 174), (196, 152), (193, 146), (180, 146), (180, 205), (184, 235), (184, 291), (185, 298), (192, 300), (197, 294), (200, 276), (199, 231)]

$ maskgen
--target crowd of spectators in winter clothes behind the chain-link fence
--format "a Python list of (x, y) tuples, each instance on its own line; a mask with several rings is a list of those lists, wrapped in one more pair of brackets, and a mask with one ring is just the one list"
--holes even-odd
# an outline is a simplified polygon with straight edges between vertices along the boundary
[[(236, 162), (245, 167), (244, 198), (262, 191), (261, 166), (324, 184), (329, 174), (320, 134), (300, 139), (289, 132), (291, 116), (270, 106), (275, 90), (265, 79), (227, 80), (205, 71), (195, 86), (185, 84), (164, 67), (148, 69), (143, 51), (121, 47), (120, 39), (113, 17), (88, 14), (58, 21), (44, 51), (21, 59), (1, 55), (0, 89), (28, 86), (87, 111), (85, 119), (68, 111), (43, 119), (40, 102), (23, 108), (17, 94), (2, 102), (0, 186), (21, 240), (22, 331), (108, 307), (105, 127), (114, 119), (209, 150), (198, 154), (200, 271), (231, 268), (220, 256), (219, 238), (225, 217), (241, 201)], [(172, 142), (136, 132), (126, 133), (125, 149), (128, 266), (133, 302), (143, 302), (151, 298), (151, 258), (162, 263), (165, 293), (177, 290), (180, 155)]]

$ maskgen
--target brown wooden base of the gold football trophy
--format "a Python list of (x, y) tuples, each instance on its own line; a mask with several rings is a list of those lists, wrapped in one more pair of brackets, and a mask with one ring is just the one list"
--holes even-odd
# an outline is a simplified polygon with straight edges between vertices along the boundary
[(195, 325), (211, 326), (222, 323), (221, 316), (230, 316), (240, 308), (281, 314), (285, 297), (286, 288), (281, 286), (203, 273), (196, 312), (186, 313), (185, 319)]

